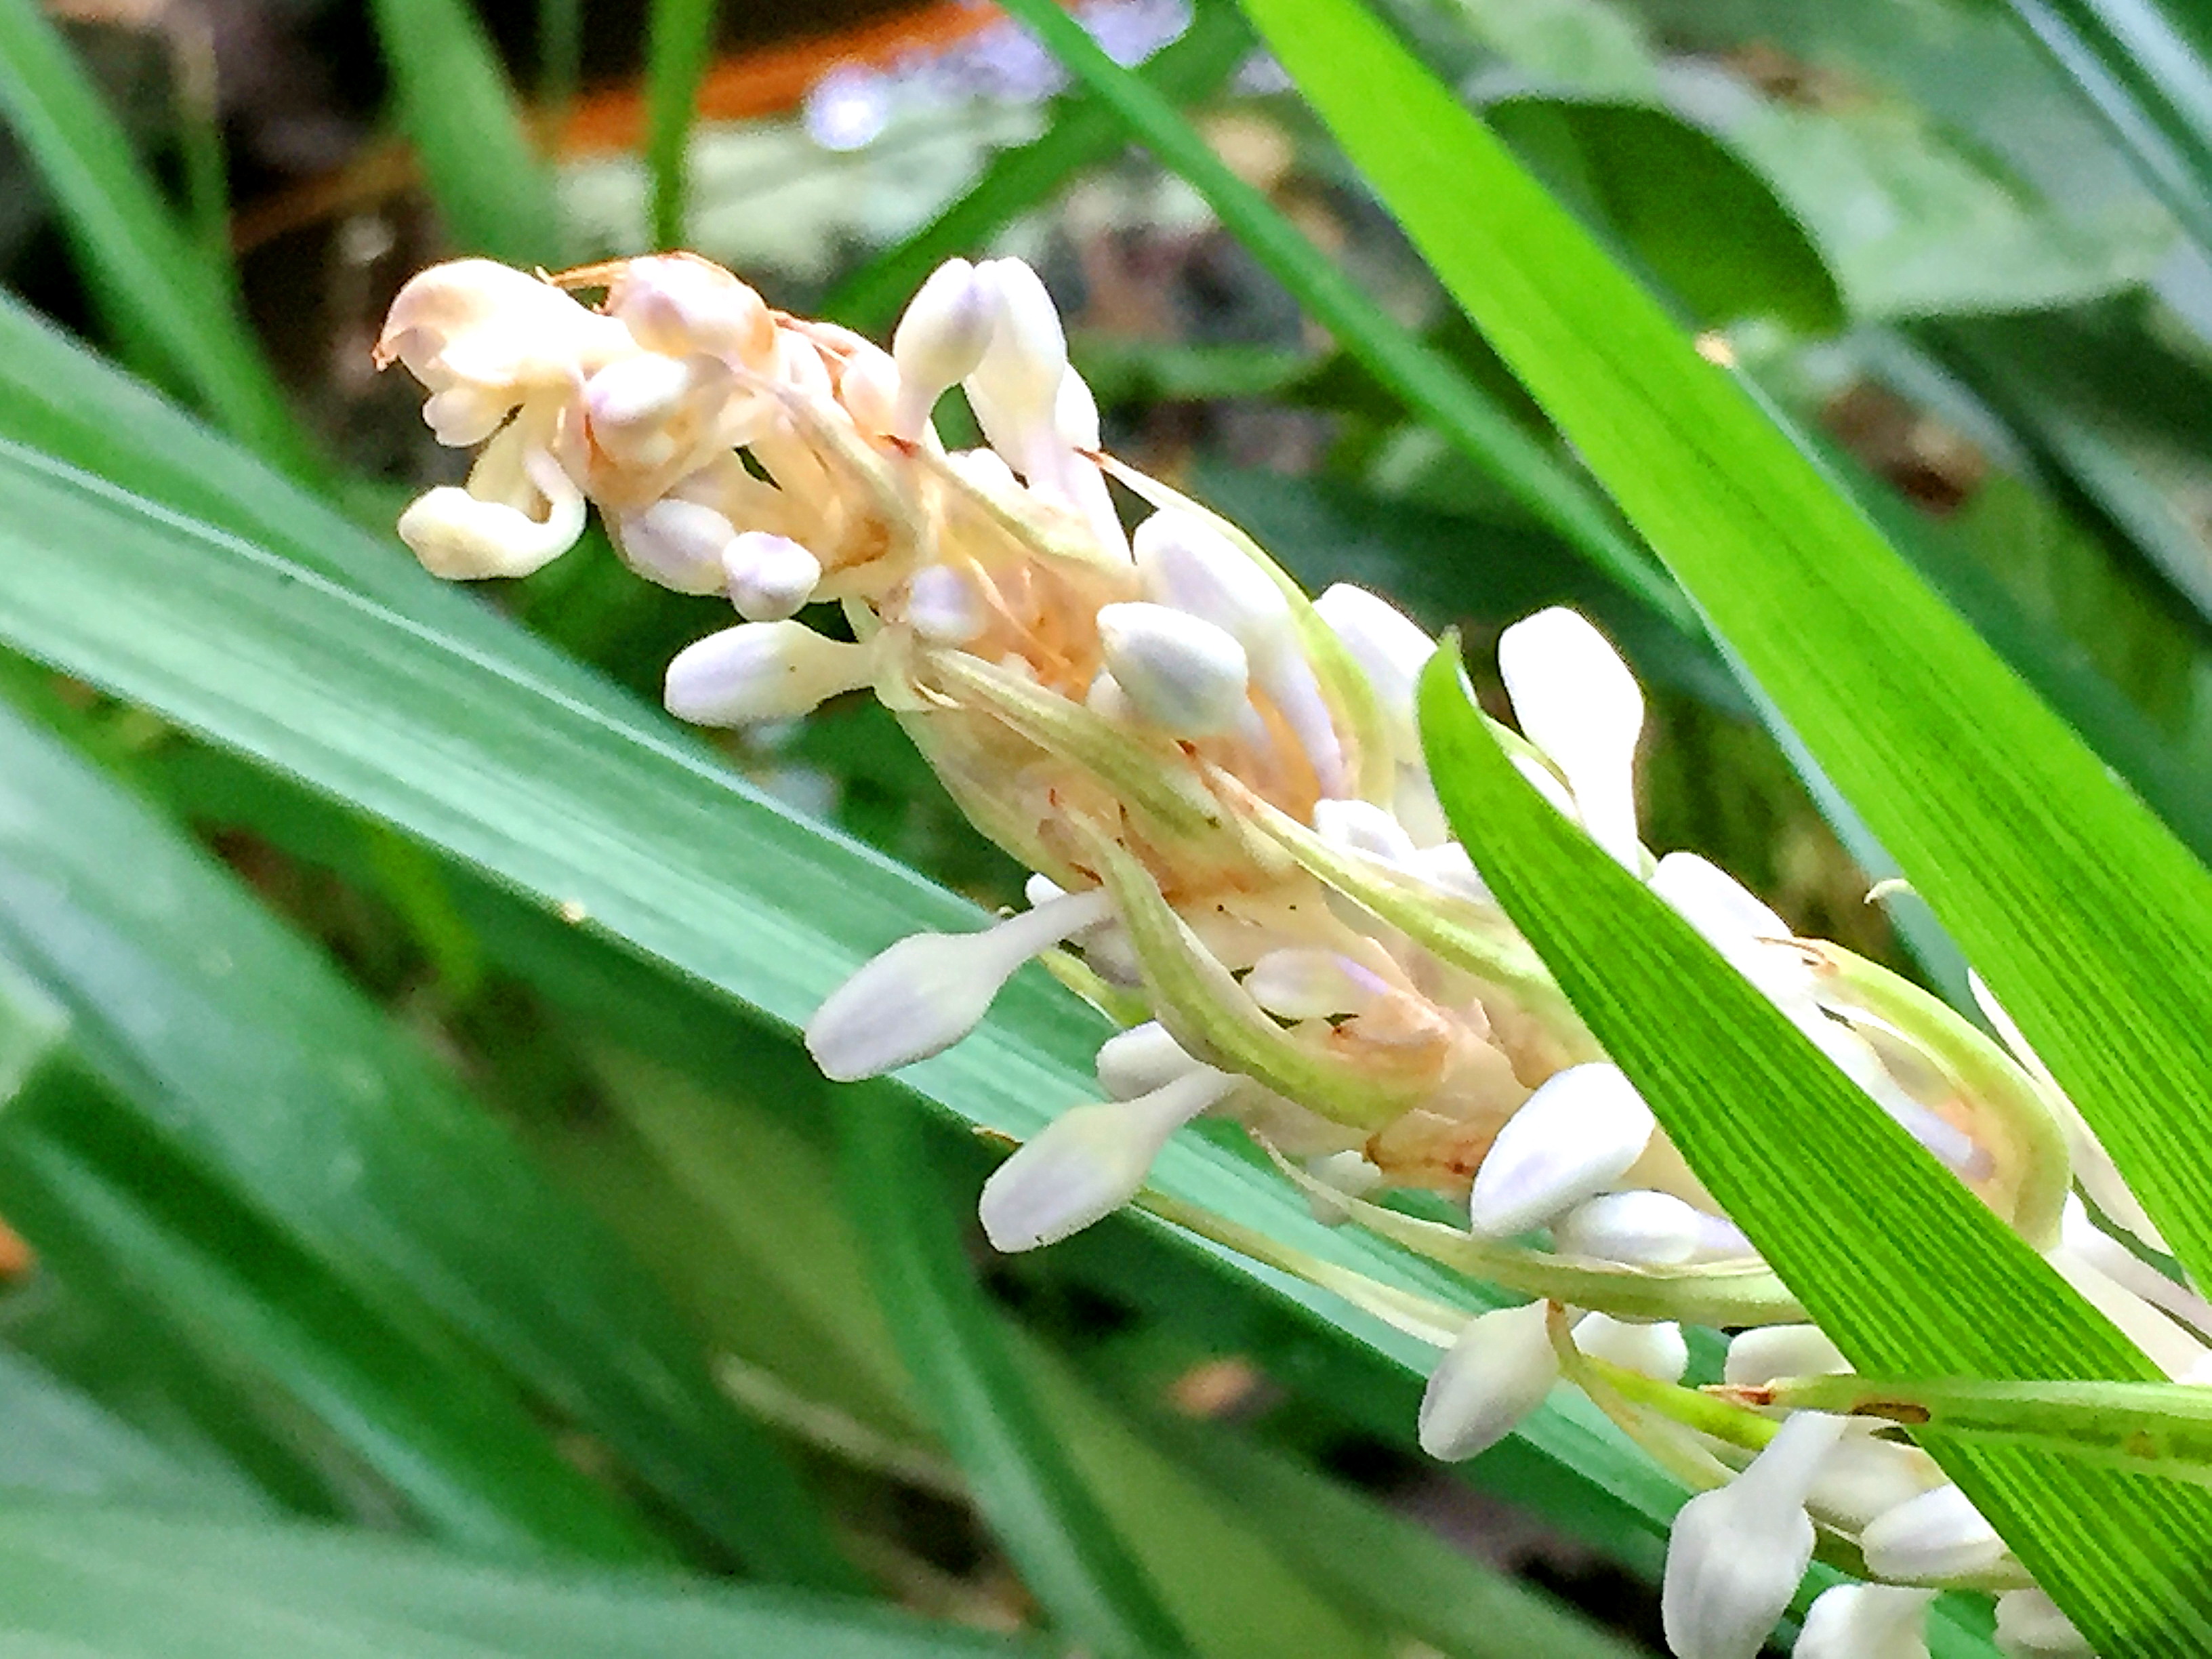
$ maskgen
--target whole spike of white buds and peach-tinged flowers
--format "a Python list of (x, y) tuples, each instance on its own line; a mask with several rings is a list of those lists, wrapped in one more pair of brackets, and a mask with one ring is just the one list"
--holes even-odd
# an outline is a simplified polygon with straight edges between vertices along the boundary
[[(571, 290), (604, 296), (588, 307)], [(1666, 1579), (1683, 1659), (1756, 1652), (1823, 1533), (1874, 1584), (1823, 1595), (1803, 1655), (1922, 1652), (1942, 1584), (2002, 1590), (2015, 1652), (2084, 1650), (1916, 1447), (1681, 1387), (1683, 1323), (1741, 1332), (1725, 1360), (1739, 1389), (1845, 1363), (1453, 841), (1413, 723), (1436, 644), (1360, 588), (1307, 599), (1234, 524), (1102, 453), (1026, 265), (947, 263), (885, 352), (774, 312), (688, 254), (551, 281), (460, 261), (400, 292), (378, 356), (427, 387), (440, 440), (482, 445), (467, 487), (400, 520), (425, 566), (524, 575), (577, 540), (595, 502), (633, 571), (728, 595), (743, 617), (668, 666), (677, 717), (752, 726), (872, 688), (973, 823), (1035, 872), (1024, 911), (902, 940), (807, 1026), (830, 1077), (894, 1071), (967, 1035), (1040, 956), (1115, 1018), (1102, 1099), (1064, 1110), (987, 1183), (998, 1248), (1146, 1201), (1181, 1126), (1234, 1119), (1323, 1219), (1531, 1296), (1469, 1321), (1325, 1276), (1447, 1349), (1418, 1425), (1431, 1453), (1482, 1451), (1566, 1378), (1701, 1491)], [(947, 451), (931, 427), (953, 385), (982, 449)], [(1133, 531), (1108, 480), (1148, 509)], [(801, 622), (810, 604), (841, 606), (849, 637)], [(1559, 812), (2170, 1374), (2203, 1363), (2203, 1305), (2070, 1199), (2079, 1177), (2106, 1217), (2150, 1237), (2033, 1055), (1792, 938), (1705, 860), (1652, 858), (1632, 794), (1641, 692), (1582, 617), (1515, 624), (1500, 670), (1520, 723), (1502, 739)], [(1405, 1188), (1464, 1203), (1467, 1225), (1376, 1201)]]

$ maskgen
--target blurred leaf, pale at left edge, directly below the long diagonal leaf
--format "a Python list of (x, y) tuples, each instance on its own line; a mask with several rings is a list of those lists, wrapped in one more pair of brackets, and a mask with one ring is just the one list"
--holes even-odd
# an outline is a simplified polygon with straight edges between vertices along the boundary
[(7, 714), (0, 947), (71, 1006), (139, 1133), (352, 1294), (449, 1321), (763, 1575), (854, 1582), (697, 1338), (513, 1139), (228, 874)]

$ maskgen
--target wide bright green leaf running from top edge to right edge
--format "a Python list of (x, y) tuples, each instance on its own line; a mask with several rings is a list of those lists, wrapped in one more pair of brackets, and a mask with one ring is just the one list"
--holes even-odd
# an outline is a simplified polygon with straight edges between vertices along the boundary
[(1245, 11), (2212, 1270), (2212, 876), (1374, 15)]

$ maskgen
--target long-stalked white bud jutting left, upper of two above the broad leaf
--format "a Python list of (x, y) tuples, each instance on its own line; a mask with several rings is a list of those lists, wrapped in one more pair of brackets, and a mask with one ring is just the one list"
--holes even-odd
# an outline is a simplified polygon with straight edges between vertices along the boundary
[[(748, 624), (792, 628), (790, 622)], [(1104, 889), (1066, 894), (980, 933), (914, 933), (830, 993), (807, 1020), (807, 1053), (849, 1084), (951, 1048), (1029, 958), (1113, 916)]]

